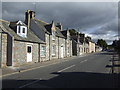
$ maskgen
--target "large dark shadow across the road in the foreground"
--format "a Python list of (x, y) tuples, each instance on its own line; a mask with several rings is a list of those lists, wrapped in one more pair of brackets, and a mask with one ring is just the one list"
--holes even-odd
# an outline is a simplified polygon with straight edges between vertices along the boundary
[[(105, 74), (92, 72), (53, 72), (57, 75), (49, 80), (40, 80), (25, 88), (118, 88), (120, 74)], [(31, 80), (4, 80), (3, 88), (25, 85), (25, 83), (34, 82)]]

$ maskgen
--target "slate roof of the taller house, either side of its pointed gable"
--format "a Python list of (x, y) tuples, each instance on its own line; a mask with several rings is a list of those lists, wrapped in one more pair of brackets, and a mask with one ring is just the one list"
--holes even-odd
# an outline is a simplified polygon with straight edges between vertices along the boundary
[[(31, 19), (31, 20), (32, 20), (33, 22), (35, 22), (40, 29), (44, 30), (44, 31), (45, 31), (46, 33), (48, 33), (48, 34), (52, 34), (52, 32), (51, 32), (52, 24), (49, 24), (49, 23), (44, 22), (44, 21), (42, 21), (42, 20), (38, 20), (38, 19), (36, 19), (36, 18), (35, 18), (35, 19)], [(58, 27), (55, 27), (55, 29), (56, 29), (56, 36), (65, 38), (65, 37), (62, 35), (61, 30), (60, 30)]]

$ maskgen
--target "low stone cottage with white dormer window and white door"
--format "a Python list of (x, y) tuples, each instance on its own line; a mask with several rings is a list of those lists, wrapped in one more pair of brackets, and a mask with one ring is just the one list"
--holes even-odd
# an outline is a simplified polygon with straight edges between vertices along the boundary
[(19, 66), (40, 61), (40, 46), (44, 44), (22, 21), (0, 20), (1, 67)]

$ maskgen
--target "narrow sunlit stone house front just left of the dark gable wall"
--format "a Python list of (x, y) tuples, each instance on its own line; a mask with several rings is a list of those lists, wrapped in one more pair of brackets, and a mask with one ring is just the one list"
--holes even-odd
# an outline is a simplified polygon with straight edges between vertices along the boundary
[(72, 39), (71, 39), (71, 36), (70, 36), (70, 32), (69, 30), (63, 30), (61, 31), (62, 34), (65, 36), (65, 56), (66, 57), (71, 57), (72, 56)]

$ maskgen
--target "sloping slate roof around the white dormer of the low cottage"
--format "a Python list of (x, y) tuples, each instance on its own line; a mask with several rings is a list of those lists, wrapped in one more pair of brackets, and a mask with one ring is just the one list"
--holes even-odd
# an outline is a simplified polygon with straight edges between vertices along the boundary
[(26, 38), (21, 37), (21, 36), (17, 35), (13, 29), (11, 29), (9, 27), (10, 22), (2, 21), (2, 20), (0, 20), (0, 22), (2, 22), (2, 25), (0, 25), (0, 27), (2, 27), (2, 30), (4, 32), (7, 32), (8, 34), (12, 35), (15, 40), (25, 41), (25, 42), (33, 42), (33, 43), (45, 43), (42, 40), (40, 40), (31, 30), (27, 31)]

